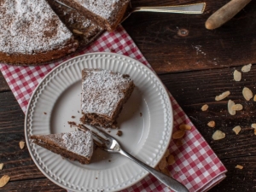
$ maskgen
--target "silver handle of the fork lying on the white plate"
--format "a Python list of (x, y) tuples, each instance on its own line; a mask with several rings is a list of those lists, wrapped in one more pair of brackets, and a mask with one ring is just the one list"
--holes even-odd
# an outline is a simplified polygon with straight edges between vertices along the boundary
[(133, 157), (131, 154), (128, 154), (124, 150), (120, 149), (119, 154), (123, 154), (125, 157), (128, 157), (130, 160), (136, 162), (139, 166), (142, 166), (145, 170), (147, 170), (152, 175), (154, 175), (154, 177), (160, 180), (161, 183), (166, 184), (167, 187), (174, 190), (175, 192), (189, 192), (189, 189), (187, 189), (182, 183), (179, 183), (174, 178), (168, 177), (165, 174), (156, 171), (151, 166), (148, 166), (144, 164), (142, 161), (137, 160), (137, 158)]

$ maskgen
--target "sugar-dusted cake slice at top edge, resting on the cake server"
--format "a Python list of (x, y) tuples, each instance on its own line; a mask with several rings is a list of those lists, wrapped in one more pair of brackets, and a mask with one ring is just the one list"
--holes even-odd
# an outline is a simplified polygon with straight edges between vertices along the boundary
[(108, 31), (123, 19), (129, 0), (60, 0)]

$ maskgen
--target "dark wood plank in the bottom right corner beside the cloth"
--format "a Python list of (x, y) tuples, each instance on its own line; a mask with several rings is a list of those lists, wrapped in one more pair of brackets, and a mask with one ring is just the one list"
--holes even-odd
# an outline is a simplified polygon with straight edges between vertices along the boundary
[[(224, 165), (229, 170), (227, 177), (223, 182), (209, 190), (209, 192), (241, 192), (255, 191), (255, 163), (256, 157), (237, 157), (227, 160), (222, 160)], [(235, 168), (236, 165), (243, 166), (243, 169)]]

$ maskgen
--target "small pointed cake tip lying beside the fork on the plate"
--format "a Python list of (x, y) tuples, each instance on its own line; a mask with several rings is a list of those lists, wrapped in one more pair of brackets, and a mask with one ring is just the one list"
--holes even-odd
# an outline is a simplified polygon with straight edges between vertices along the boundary
[(91, 131), (72, 131), (60, 134), (31, 136), (33, 143), (47, 148), (55, 154), (69, 160), (77, 160), (81, 164), (89, 164), (93, 154)]

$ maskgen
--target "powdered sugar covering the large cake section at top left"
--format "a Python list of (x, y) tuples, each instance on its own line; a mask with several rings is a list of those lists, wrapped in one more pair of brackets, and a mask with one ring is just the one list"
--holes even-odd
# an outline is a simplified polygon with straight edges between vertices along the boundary
[(0, 2), (0, 51), (33, 54), (55, 49), (70, 38), (72, 33), (45, 1)]

